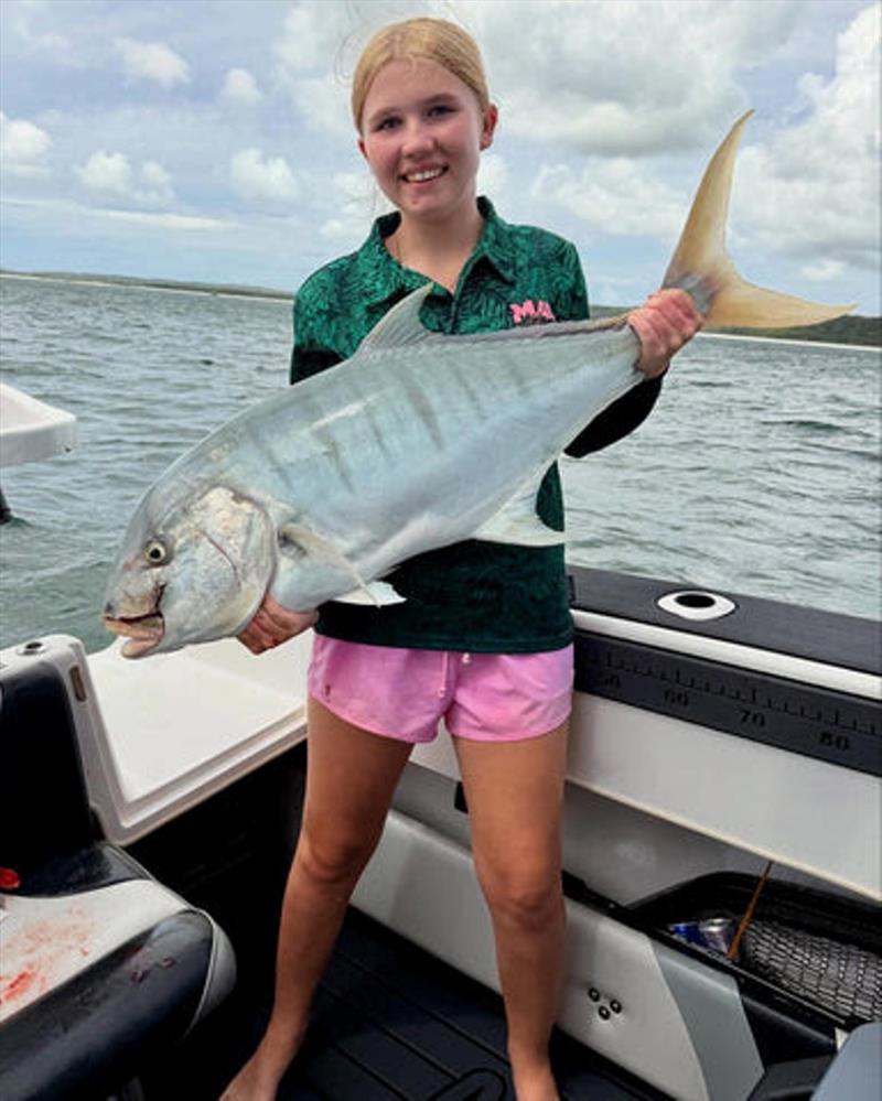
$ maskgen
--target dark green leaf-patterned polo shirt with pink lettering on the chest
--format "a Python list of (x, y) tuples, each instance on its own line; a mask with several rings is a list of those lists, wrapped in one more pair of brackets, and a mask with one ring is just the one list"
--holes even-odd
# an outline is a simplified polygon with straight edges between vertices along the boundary
[[(429, 294), (421, 313), (426, 327), (480, 333), (550, 315), (587, 317), (576, 248), (546, 230), (503, 222), (486, 198), (477, 203), (484, 218), (481, 239), (455, 293), (435, 285)], [(401, 267), (384, 245), (398, 222), (398, 214), (378, 218), (357, 252), (321, 268), (301, 287), (294, 302), (292, 382), (349, 358), (396, 302), (424, 285), (426, 277)], [(617, 438), (634, 427), (620, 431), (617, 418), (612, 420), (612, 433), (609, 428), (600, 433), (604, 444), (606, 435)], [(580, 438), (574, 450), (595, 446)], [(557, 466), (542, 482), (536, 509), (549, 527), (563, 529)], [(555, 650), (572, 638), (562, 546), (469, 540), (410, 559), (387, 580), (404, 603), (375, 608), (331, 602), (320, 609), (316, 630), (380, 646), (497, 654)]]

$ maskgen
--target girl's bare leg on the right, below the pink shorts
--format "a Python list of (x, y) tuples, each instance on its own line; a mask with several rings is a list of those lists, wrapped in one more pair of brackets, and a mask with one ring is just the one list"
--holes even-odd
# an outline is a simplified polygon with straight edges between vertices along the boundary
[(563, 969), (567, 725), (523, 742), (454, 742), (496, 939), (515, 1092), (518, 1101), (556, 1101), (548, 1041)]

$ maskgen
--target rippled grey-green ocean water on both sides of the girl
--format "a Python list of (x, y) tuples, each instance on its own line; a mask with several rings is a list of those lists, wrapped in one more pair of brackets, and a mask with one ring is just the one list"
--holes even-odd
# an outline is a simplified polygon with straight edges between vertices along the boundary
[[(68, 455), (2, 467), (0, 646), (88, 650), (143, 492), (243, 404), (287, 385), (290, 303), (0, 277), (3, 379), (78, 418)], [(872, 349), (699, 337), (648, 421), (564, 461), (568, 557), (880, 617), (880, 382)]]

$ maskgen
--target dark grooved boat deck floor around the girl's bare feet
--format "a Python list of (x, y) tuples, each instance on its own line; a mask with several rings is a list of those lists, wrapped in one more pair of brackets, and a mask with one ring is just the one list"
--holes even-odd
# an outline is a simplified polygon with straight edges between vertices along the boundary
[[(238, 1005), (222, 1010), (191, 1050), (144, 1080), (148, 1101), (216, 1099), (259, 1036), (269, 1008), (261, 1001), (246, 1007), (240, 994)], [(552, 1058), (568, 1101), (665, 1101), (562, 1034)], [(351, 909), (278, 1101), (514, 1097), (498, 995)]]

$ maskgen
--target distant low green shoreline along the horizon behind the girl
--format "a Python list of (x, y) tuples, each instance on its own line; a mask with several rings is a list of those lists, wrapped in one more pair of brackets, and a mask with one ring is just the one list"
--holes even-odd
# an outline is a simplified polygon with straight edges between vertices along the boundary
[[(37, 282), (79, 283), (85, 287), (131, 287), (142, 290), (184, 292), (189, 294), (223, 294), (227, 298), (269, 299), (277, 302), (293, 302), (291, 291), (280, 291), (271, 287), (248, 287), (235, 283), (201, 283), (178, 279), (148, 279), (139, 276), (103, 276), (67, 271), (12, 271), (0, 268), (0, 279), (22, 279)], [(624, 313), (632, 306), (592, 307), (595, 317), (609, 317)], [(882, 352), (882, 317), (847, 315), (835, 321), (810, 327), (770, 331), (729, 330), (720, 333), (702, 333), (711, 339), (778, 341), (784, 344), (808, 345), (829, 348), (867, 348)]]

